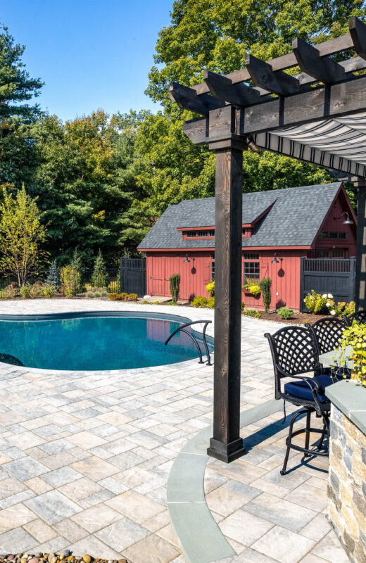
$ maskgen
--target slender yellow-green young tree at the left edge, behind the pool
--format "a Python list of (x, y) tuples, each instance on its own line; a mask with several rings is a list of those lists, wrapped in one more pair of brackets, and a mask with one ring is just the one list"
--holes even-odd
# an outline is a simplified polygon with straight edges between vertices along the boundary
[(36, 200), (27, 195), (24, 186), (15, 198), (4, 189), (4, 203), (0, 205), (0, 269), (15, 275), (19, 286), (37, 273), (44, 258), (40, 246), (46, 239), (46, 229), (41, 219)]

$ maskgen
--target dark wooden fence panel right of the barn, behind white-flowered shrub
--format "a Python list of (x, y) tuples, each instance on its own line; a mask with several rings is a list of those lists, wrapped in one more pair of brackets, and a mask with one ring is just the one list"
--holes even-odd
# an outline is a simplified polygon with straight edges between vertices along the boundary
[(355, 258), (300, 258), (300, 310), (306, 310), (304, 297), (332, 293), (334, 301), (355, 301)]

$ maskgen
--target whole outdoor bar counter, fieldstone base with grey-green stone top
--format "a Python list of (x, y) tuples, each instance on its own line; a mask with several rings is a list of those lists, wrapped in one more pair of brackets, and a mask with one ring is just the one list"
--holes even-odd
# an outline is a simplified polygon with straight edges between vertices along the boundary
[(353, 563), (366, 561), (366, 388), (340, 381), (332, 400), (328, 516)]

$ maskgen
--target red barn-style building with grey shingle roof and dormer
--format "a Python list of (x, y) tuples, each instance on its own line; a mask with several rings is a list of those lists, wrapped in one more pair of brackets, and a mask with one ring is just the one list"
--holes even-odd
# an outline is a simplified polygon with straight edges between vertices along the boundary
[[(301, 256), (355, 256), (355, 214), (341, 182), (244, 194), (242, 227), (243, 285), (246, 277), (269, 276), (272, 308), (298, 310)], [(170, 296), (169, 278), (179, 273), (180, 299), (207, 297), (205, 286), (215, 279), (215, 198), (170, 205), (138, 249), (146, 253), (147, 293)], [(245, 290), (242, 301), (263, 308)]]

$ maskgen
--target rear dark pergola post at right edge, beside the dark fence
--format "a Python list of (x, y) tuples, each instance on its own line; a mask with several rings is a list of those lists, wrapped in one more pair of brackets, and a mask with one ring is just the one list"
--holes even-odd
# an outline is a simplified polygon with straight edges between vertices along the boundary
[(353, 178), (357, 193), (356, 311), (366, 310), (366, 182)]

